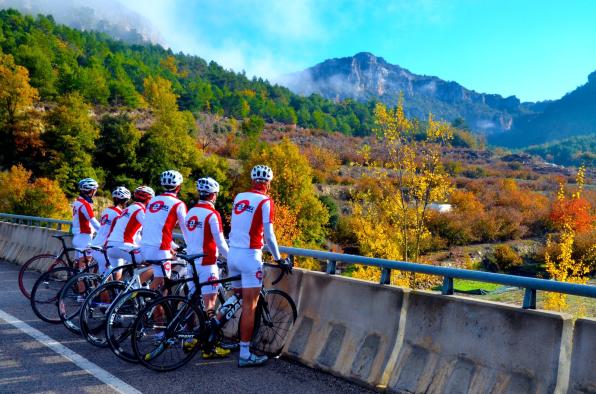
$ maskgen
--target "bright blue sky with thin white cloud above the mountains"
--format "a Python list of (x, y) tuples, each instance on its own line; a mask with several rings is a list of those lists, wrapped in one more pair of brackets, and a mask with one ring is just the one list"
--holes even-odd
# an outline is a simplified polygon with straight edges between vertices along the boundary
[(121, 0), (175, 51), (275, 80), (372, 52), (417, 74), (524, 101), (596, 70), (596, 0)]

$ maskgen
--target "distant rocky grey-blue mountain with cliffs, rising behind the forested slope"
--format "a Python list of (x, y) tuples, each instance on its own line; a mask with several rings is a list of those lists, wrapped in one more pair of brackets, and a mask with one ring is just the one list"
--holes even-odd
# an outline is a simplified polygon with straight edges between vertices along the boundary
[(329, 59), (283, 78), (282, 84), (302, 95), (318, 93), (329, 99), (379, 99), (395, 105), (404, 95), (409, 116), (425, 118), (429, 112), (444, 120), (464, 118), (477, 132), (492, 134), (511, 130), (513, 120), (533, 114), (543, 104), (521, 103), (515, 96), (477, 93), (457, 82), (417, 75), (368, 52)]

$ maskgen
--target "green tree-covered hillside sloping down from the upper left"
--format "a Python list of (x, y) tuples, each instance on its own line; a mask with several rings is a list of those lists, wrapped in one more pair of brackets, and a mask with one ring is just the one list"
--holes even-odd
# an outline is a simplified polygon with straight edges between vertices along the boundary
[(0, 49), (29, 70), (42, 100), (78, 91), (90, 104), (138, 108), (144, 105), (143, 81), (159, 76), (172, 84), (182, 110), (235, 118), (256, 115), (267, 122), (353, 135), (371, 130), (372, 103), (301, 97), (197, 56), (125, 44), (105, 34), (57, 25), (52, 17), (0, 11)]

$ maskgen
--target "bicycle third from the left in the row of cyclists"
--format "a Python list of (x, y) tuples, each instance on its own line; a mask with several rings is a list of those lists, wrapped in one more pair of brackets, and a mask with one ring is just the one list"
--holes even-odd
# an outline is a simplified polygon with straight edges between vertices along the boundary
[(107, 253), (110, 247), (90, 246), (90, 248), (103, 253), (106, 261), (106, 270), (103, 274), (81, 272), (73, 276), (64, 284), (58, 296), (58, 315), (60, 320), (69, 331), (77, 335), (81, 335), (79, 315), (85, 298), (99, 285), (113, 279), (113, 275), (116, 272), (124, 271), (125, 274), (132, 274), (132, 264), (111, 267)]

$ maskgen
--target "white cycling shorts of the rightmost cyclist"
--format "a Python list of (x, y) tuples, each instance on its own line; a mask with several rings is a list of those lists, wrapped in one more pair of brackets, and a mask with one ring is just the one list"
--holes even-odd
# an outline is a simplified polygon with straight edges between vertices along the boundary
[(240, 281), (233, 281), (235, 289), (251, 289), (263, 285), (263, 252), (260, 249), (230, 248), (228, 252), (228, 273), (241, 275)]

